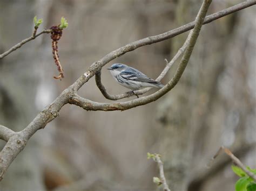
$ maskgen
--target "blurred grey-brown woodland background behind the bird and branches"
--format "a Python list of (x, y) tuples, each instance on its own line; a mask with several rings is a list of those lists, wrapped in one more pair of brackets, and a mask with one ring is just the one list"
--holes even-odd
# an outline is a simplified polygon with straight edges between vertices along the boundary
[[(240, 2), (214, 0), (208, 15)], [(58, 44), (62, 81), (53, 79), (58, 72), (50, 34), (0, 60), (0, 123), (15, 131), (24, 129), (92, 62), (134, 40), (191, 22), (200, 4), (195, 0), (1, 0), (1, 53), (31, 36), (34, 16), (44, 20), (38, 31), (59, 24), (62, 16), (69, 27)], [(167, 182), (174, 191), (234, 190), (238, 176), (225, 154), (211, 168), (206, 164), (224, 145), (245, 165), (256, 168), (255, 18), (253, 6), (204, 25), (183, 77), (156, 102), (123, 112), (65, 105), (12, 162), (0, 190), (161, 189), (152, 182), (159, 169), (147, 160), (147, 152), (163, 156)], [(156, 78), (165, 67), (164, 59), (171, 60), (186, 36), (144, 46), (110, 62), (102, 70), (109, 93), (127, 91), (106, 70), (112, 63), (125, 63)], [(177, 64), (162, 83), (176, 68)], [(79, 94), (110, 102), (94, 79)]]

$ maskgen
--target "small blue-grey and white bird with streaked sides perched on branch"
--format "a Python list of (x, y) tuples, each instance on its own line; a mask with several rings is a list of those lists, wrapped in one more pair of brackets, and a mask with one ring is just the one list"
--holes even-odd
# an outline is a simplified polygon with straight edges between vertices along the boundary
[(114, 63), (110, 68), (113, 78), (122, 86), (133, 90), (139, 90), (146, 87), (163, 88), (160, 82), (147, 77), (139, 70), (123, 63)]

